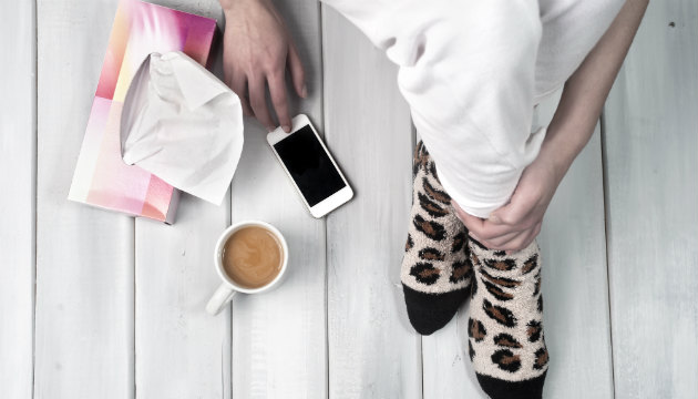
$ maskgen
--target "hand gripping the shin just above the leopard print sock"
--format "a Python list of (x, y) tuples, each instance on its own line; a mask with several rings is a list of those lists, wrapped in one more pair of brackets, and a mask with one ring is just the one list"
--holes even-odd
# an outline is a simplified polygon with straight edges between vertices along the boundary
[(487, 219), (468, 214), (453, 201), (459, 218), (470, 235), (490, 249), (514, 253), (527, 247), (541, 232), (543, 215), (566, 171), (541, 152), (519, 178), (510, 202)]

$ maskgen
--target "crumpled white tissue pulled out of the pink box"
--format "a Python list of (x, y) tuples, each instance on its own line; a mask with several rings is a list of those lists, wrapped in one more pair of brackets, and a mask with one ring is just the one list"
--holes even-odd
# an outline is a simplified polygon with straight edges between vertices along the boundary
[(184, 192), (220, 205), (243, 151), (237, 95), (181, 51), (152, 53), (121, 116), (121, 153)]

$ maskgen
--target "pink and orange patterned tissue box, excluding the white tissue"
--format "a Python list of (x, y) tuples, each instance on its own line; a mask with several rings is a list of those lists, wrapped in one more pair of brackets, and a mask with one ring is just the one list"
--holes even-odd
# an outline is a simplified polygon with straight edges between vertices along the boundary
[(178, 191), (121, 158), (123, 102), (151, 52), (181, 50), (206, 65), (215, 34), (214, 19), (138, 0), (119, 3), (69, 200), (173, 223)]

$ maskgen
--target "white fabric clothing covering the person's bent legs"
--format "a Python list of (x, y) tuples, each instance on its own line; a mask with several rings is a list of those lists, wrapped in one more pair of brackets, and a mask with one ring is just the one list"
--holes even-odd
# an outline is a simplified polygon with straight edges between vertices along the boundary
[(624, 0), (322, 0), (399, 65), (398, 86), (449, 195), (486, 218), (506, 204), (562, 86)]

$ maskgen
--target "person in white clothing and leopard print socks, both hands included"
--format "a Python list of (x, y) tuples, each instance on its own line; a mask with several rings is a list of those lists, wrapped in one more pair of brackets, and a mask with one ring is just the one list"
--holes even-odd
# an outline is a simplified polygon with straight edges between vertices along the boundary
[[(401, 267), (422, 335), (470, 298), (468, 351), (485, 393), (541, 398), (550, 354), (535, 241), (591, 139), (648, 0), (324, 0), (399, 65), (422, 141)], [(270, 0), (220, 0), (224, 74), (246, 115), (290, 131), (285, 73), (305, 72)], [(563, 88), (553, 120), (535, 106)]]

